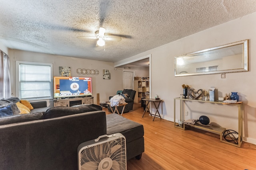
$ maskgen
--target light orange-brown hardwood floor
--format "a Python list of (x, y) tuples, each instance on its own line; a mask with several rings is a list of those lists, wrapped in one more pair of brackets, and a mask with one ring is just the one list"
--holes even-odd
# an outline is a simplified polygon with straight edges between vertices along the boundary
[(184, 131), (171, 121), (152, 121), (153, 117), (142, 118), (142, 114), (140, 104), (123, 114), (144, 126), (145, 152), (140, 160), (128, 160), (128, 170), (256, 170), (256, 145), (243, 142), (241, 148), (234, 147), (213, 133)]

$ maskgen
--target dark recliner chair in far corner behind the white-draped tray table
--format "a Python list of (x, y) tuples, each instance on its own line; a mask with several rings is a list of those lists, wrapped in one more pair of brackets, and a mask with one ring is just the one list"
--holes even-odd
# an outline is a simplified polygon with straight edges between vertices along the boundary
[[(134, 98), (135, 98), (136, 91), (132, 90), (132, 89), (124, 89), (122, 91), (122, 94), (128, 94), (128, 96), (129, 96), (129, 98), (125, 98), (125, 102), (128, 103), (128, 104), (124, 107), (124, 113), (127, 113), (128, 111), (133, 109), (133, 104), (134, 104)], [(113, 96), (110, 96), (109, 100), (112, 97)], [(115, 107), (112, 107), (112, 109), (114, 110)], [(123, 106), (118, 106), (117, 109), (118, 109), (119, 113), (122, 113)], [(108, 106), (108, 111), (112, 112), (111, 109), (110, 109), (110, 106)]]

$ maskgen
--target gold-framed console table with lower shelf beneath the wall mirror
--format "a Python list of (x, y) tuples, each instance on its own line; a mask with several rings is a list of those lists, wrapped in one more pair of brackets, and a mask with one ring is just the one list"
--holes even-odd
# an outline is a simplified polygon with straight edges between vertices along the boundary
[[(184, 99), (184, 98), (174, 98), (174, 127), (176, 128), (180, 128), (185, 130), (185, 125), (182, 124), (182, 126), (180, 127), (178, 123), (176, 123), (176, 119), (175, 119), (175, 115), (176, 115), (176, 101), (179, 100), (180, 101), (180, 118), (179, 120), (184, 120), (184, 102), (186, 101), (193, 101), (193, 102), (205, 102), (205, 103), (212, 103), (212, 104), (216, 104), (216, 105), (223, 105), (222, 102), (212, 102), (212, 101), (205, 101), (205, 100), (194, 100), (194, 99)], [(195, 124), (195, 125), (188, 125), (191, 127), (195, 127), (197, 129), (202, 129), (208, 132), (212, 132), (212, 133), (216, 133), (220, 135), (220, 141), (224, 142), (224, 143), (228, 143), (230, 145), (236, 146), (236, 147), (241, 147), (242, 144), (242, 132), (243, 132), (243, 104), (230, 104), (232, 106), (237, 106), (238, 107), (238, 144), (235, 143), (230, 143), (228, 141), (225, 141), (224, 139), (222, 139), (222, 133), (226, 130), (226, 128), (224, 127), (216, 127), (216, 126), (204, 126), (204, 125), (199, 125), (199, 124)]]

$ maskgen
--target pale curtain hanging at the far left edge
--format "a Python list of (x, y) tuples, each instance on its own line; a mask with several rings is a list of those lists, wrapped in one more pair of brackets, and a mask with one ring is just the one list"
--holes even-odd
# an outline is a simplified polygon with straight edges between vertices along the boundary
[(0, 99), (11, 97), (9, 56), (0, 50)]

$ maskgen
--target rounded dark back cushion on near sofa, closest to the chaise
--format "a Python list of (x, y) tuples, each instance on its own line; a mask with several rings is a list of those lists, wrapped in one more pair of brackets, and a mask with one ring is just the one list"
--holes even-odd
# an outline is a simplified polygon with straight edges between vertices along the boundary
[(74, 115), (77, 113), (84, 113), (89, 111), (101, 111), (102, 107), (96, 104), (88, 104), (78, 107), (51, 107), (45, 111), (45, 118), (50, 119), (54, 117), (61, 117), (66, 115)]

